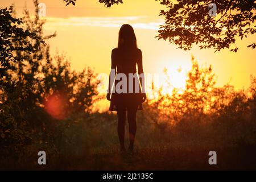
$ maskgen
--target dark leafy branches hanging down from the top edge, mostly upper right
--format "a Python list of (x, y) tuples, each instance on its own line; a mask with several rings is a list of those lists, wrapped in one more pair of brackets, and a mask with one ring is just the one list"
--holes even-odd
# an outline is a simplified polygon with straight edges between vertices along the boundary
[[(75, 0), (64, 0), (75, 5)], [(254, 24), (256, 3), (254, 0), (156, 0), (166, 6), (161, 10), (165, 23), (160, 26), (156, 38), (168, 40), (179, 48), (189, 50), (194, 44), (200, 49), (228, 48), (237, 52), (237, 38), (243, 39), (256, 32)], [(105, 6), (123, 3), (122, 0), (99, 0)], [(209, 5), (217, 5), (217, 16), (209, 16)], [(255, 48), (251, 43), (249, 48)]]

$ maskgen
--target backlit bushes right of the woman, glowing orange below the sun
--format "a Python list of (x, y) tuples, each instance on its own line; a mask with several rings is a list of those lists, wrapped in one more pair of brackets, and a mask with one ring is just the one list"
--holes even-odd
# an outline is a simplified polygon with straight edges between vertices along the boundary
[(156, 100), (148, 101), (146, 120), (162, 133), (174, 134), (175, 142), (255, 145), (255, 77), (248, 90), (228, 84), (218, 88), (212, 67), (200, 68), (193, 57), (187, 76), (184, 90), (160, 90)]

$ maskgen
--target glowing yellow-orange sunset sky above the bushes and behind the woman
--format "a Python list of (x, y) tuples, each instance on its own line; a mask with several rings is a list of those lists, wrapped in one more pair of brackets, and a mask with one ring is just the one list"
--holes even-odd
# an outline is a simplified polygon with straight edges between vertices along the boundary
[[(32, 13), (32, 0), (0, 0), (1, 7), (15, 3), (18, 15), (27, 4)], [(226, 82), (236, 89), (247, 88), (250, 75), (255, 75), (256, 51), (246, 48), (255, 42), (256, 36), (237, 40), (237, 53), (224, 49), (214, 53), (213, 49), (200, 50), (192, 48), (190, 51), (176, 49), (176, 46), (164, 40), (154, 38), (159, 24), (163, 23), (162, 16), (158, 16), (163, 6), (155, 0), (124, 0), (123, 5), (106, 8), (97, 0), (77, 0), (76, 6), (65, 6), (62, 0), (44, 0), (46, 3), (46, 19), (44, 26), (46, 34), (56, 31), (57, 37), (50, 40), (51, 51), (66, 53), (70, 57), (73, 69), (81, 70), (86, 66), (95, 68), (97, 73), (109, 73), (110, 55), (117, 46), (118, 31), (124, 23), (134, 27), (137, 35), (138, 47), (142, 49), (145, 73), (162, 73), (163, 68), (175, 72), (183, 69), (185, 74), (191, 65), (191, 55), (200, 64), (213, 65), (217, 75), (217, 85)], [(182, 82), (183, 76), (175, 73), (170, 81)]]

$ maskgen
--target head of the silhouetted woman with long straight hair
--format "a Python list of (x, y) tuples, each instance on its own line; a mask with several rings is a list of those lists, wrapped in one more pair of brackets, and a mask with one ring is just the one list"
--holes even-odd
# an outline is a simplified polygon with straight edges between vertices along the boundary
[(118, 48), (137, 48), (137, 39), (130, 24), (123, 24), (119, 30)]

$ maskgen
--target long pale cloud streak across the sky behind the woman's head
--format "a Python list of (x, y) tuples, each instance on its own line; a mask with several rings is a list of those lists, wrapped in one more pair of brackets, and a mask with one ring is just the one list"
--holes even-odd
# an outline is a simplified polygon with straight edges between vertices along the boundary
[(147, 16), (109, 16), (109, 17), (70, 17), (55, 18), (46, 17), (46, 29), (66, 28), (66, 27), (120, 27), (129, 23), (134, 28), (158, 30), (163, 21), (160, 19), (150, 19)]

